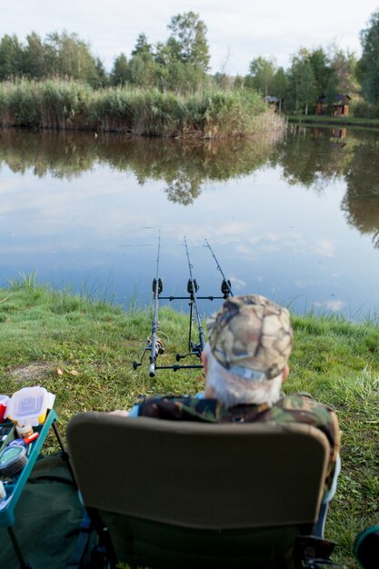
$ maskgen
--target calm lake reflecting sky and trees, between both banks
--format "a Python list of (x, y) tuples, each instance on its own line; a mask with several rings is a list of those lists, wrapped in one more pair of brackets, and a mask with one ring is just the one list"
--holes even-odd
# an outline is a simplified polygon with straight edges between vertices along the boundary
[(234, 294), (375, 319), (378, 165), (379, 135), (354, 129), (203, 144), (0, 129), (0, 286), (36, 273), (144, 306), (160, 235), (163, 294), (186, 294), (186, 238), (198, 295), (219, 295), (206, 238)]

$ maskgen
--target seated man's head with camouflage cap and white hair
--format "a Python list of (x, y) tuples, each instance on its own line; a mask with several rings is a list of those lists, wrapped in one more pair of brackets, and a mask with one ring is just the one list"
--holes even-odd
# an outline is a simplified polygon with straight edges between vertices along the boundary
[(288, 310), (260, 294), (228, 298), (208, 323), (207, 387), (227, 406), (273, 404), (293, 344)]

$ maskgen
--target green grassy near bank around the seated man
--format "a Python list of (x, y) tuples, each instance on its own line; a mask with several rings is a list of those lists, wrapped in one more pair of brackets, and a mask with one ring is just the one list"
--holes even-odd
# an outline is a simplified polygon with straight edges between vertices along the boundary
[[(56, 394), (61, 431), (72, 414), (129, 408), (139, 394), (194, 394), (201, 370), (137, 370), (153, 309), (121, 307), (69, 291), (57, 292), (24, 277), (0, 289), (0, 384), (11, 394), (40, 384)], [(165, 343), (161, 362), (185, 350), (188, 317), (169, 307), (159, 313)], [(333, 316), (293, 315), (294, 351), (286, 393), (305, 391), (334, 406), (342, 431), (343, 463), (326, 537), (338, 544), (334, 560), (353, 568), (354, 536), (377, 523), (379, 495), (379, 328)]]

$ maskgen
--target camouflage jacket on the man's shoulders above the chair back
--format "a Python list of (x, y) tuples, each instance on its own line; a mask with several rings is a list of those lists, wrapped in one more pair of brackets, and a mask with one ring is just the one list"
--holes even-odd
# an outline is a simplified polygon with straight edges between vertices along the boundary
[(217, 399), (197, 399), (189, 396), (149, 397), (139, 405), (138, 416), (155, 417), (172, 421), (204, 423), (275, 423), (297, 422), (311, 424), (320, 429), (330, 444), (329, 464), (326, 471), (324, 493), (333, 483), (335, 464), (340, 448), (340, 434), (334, 410), (316, 403), (308, 394), (283, 396), (276, 404), (241, 404), (225, 407)]

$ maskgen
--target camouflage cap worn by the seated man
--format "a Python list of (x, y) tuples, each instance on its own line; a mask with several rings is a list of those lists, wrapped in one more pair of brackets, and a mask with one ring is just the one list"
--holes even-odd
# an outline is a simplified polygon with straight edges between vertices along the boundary
[(294, 339), (283, 306), (260, 294), (232, 296), (207, 327), (211, 351), (225, 369), (254, 381), (283, 372)]

